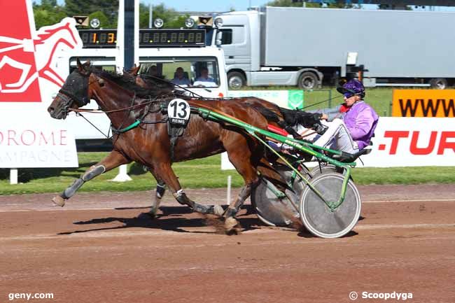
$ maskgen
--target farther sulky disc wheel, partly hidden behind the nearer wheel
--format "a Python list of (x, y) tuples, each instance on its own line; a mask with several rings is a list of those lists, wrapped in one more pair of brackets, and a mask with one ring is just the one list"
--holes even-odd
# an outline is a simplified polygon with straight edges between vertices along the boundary
[(286, 190), (284, 195), (270, 181), (262, 178), (253, 190), (251, 204), (263, 223), (270, 226), (288, 226), (300, 217), (298, 204), (305, 184), (298, 176), (293, 179), (292, 171), (285, 167), (276, 170), (292, 186), (293, 191)]

